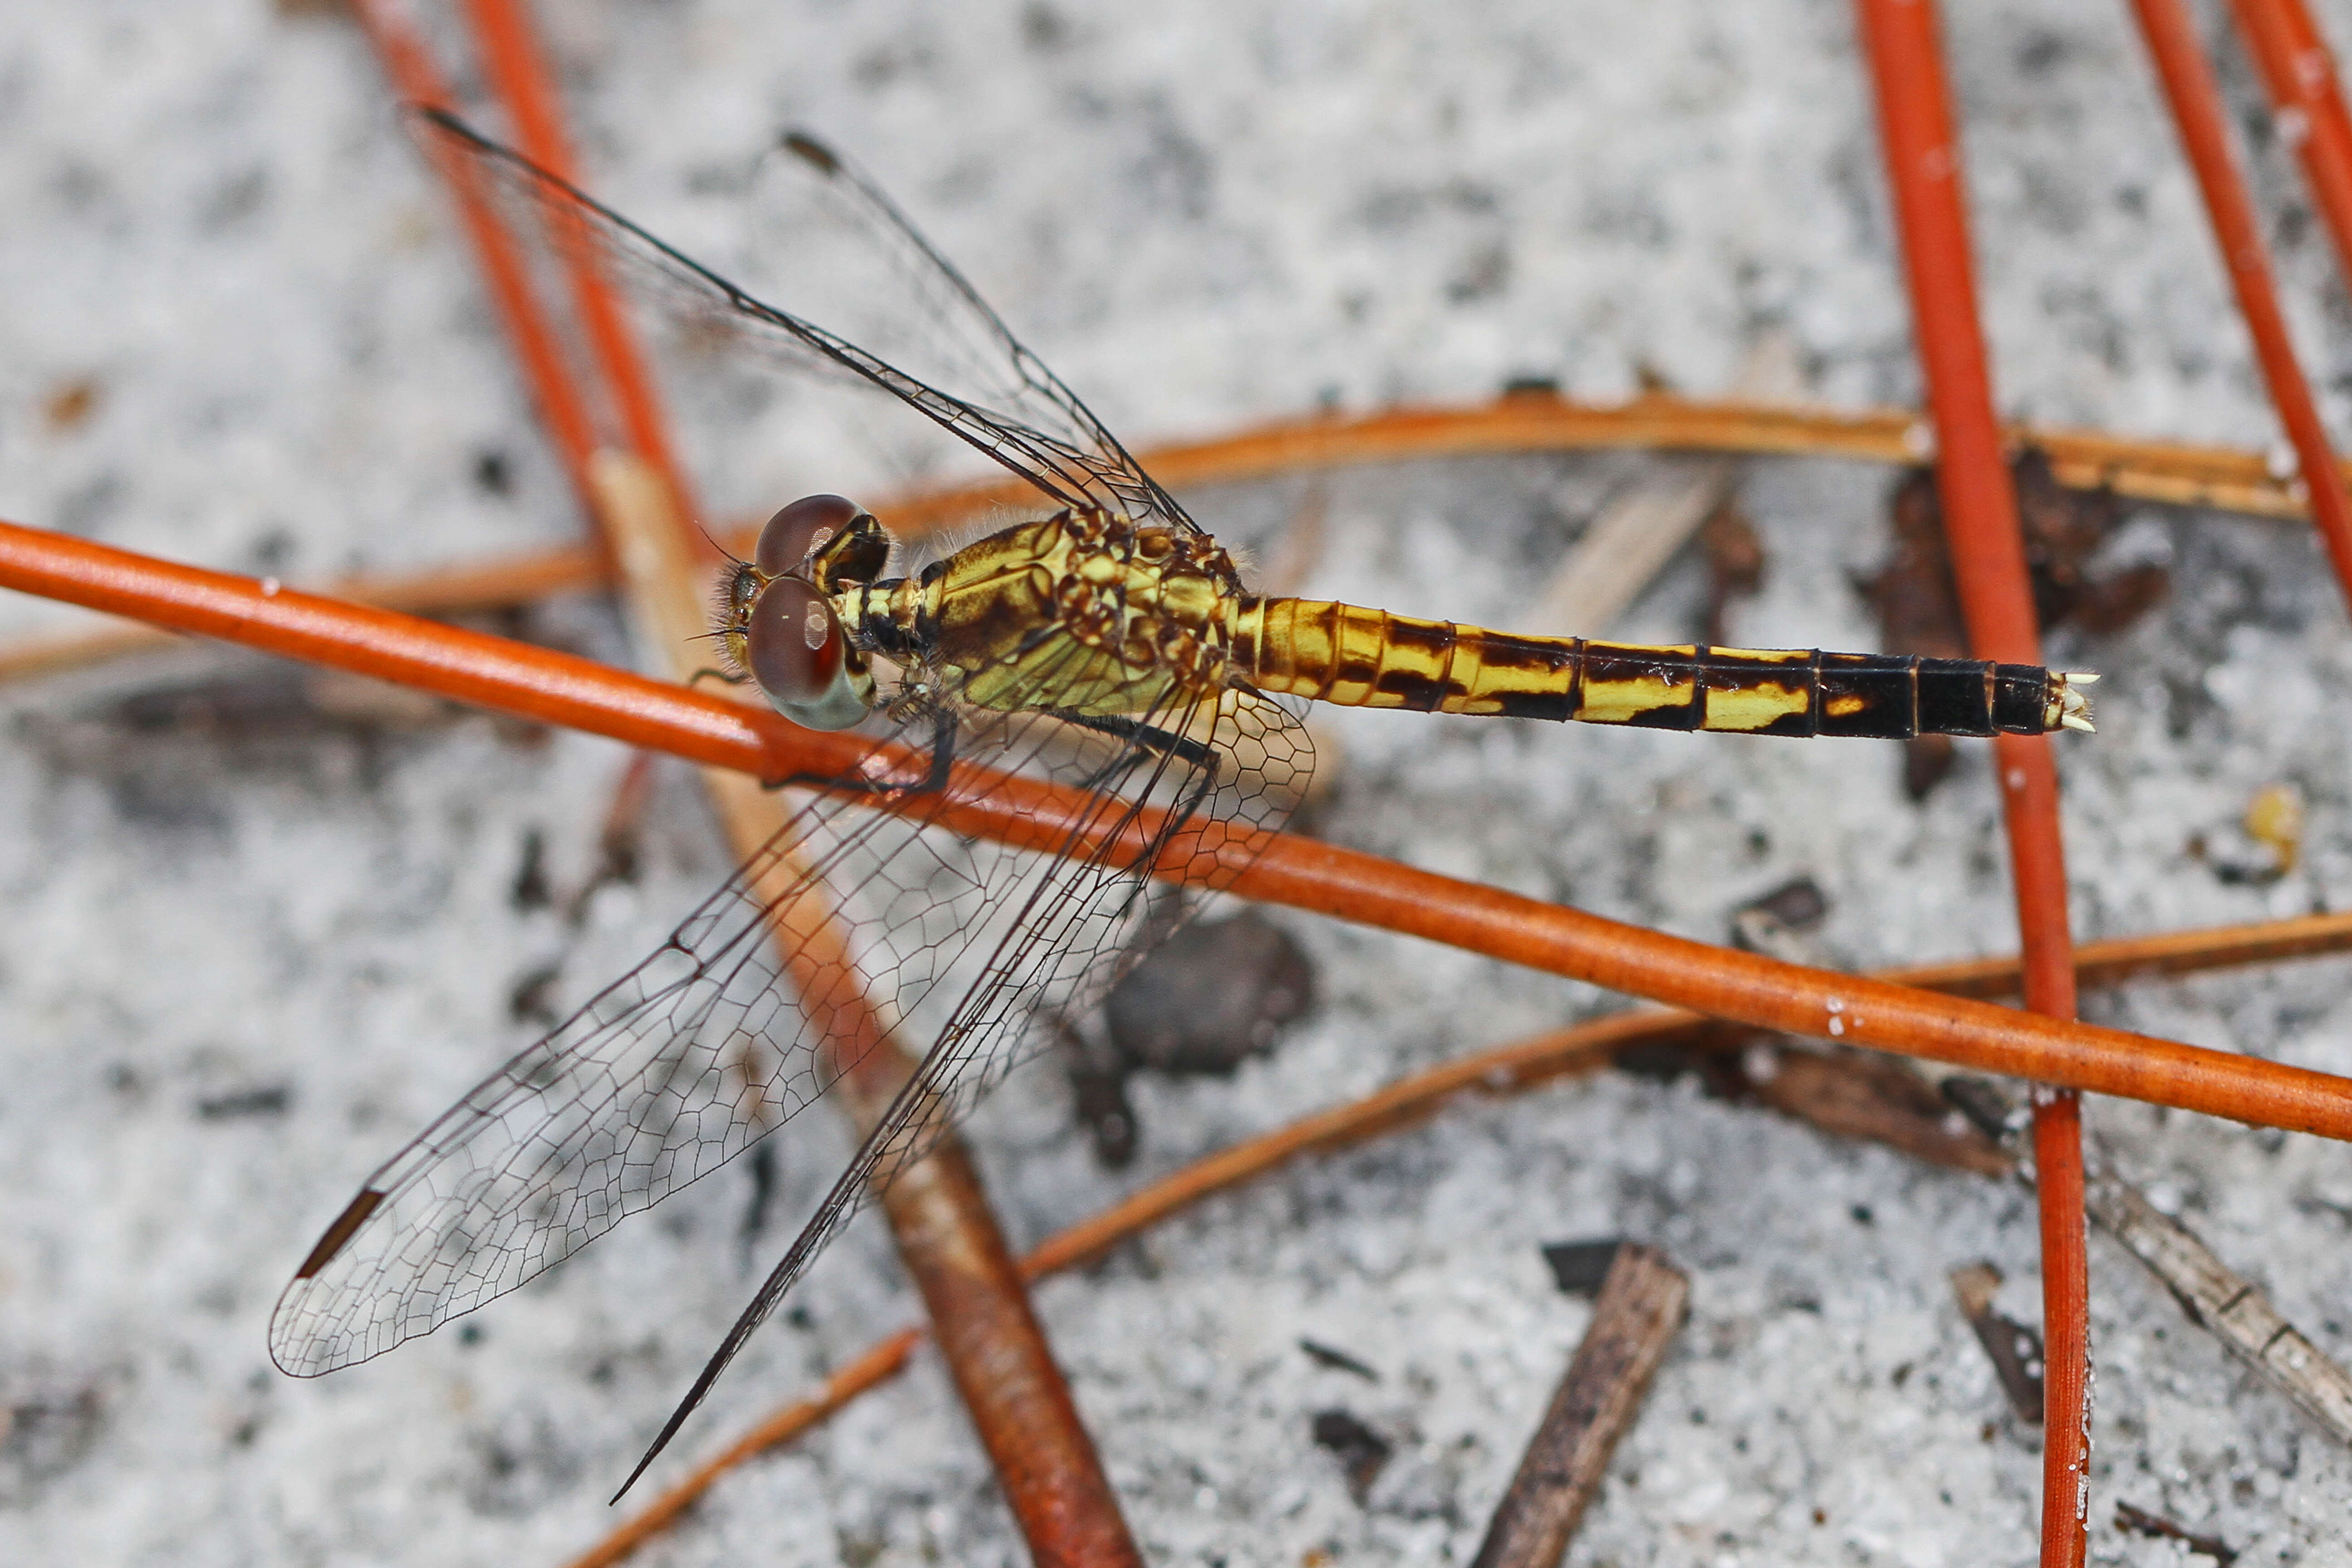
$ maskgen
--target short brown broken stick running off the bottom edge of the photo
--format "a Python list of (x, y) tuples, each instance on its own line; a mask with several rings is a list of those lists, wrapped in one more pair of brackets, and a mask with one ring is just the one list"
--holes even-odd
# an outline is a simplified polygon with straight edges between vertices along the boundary
[(1592, 1326), (1494, 1509), (1475, 1568), (1552, 1568), (1562, 1559), (1689, 1300), (1691, 1281), (1665, 1253), (1639, 1241), (1616, 1248)]

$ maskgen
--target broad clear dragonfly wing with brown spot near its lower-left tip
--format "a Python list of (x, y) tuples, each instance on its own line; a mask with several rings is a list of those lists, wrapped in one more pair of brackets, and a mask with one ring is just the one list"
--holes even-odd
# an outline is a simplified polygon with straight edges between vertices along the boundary
[[(315, 1375), (428, 1333), (795, 1117), (840, 1070), (840, 1020), (811, 1018), (783, 983), (771, 917), (844, 867), (880, 867), (882, 912), (844, 914), (844, 952), (807, 990), (866, 976), (884, 1006), (920, 1006), (957, 947), (943, 914), (1011, 872), (990, 846), (934, 849), (920, 813), (811, 799), (652, 957), (367, 1178), (278, 1302), (278, 1366)], [(915, 917), (896, 919), (908, 900)]]

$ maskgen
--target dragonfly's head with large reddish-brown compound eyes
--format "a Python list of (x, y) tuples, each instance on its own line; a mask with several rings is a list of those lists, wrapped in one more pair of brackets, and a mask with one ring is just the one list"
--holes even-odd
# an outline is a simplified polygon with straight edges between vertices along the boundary
[(873, 670), (833, 595), (875, 581), (887, 562), (882, 524), (842, 496), (802, 496), (760, 529), (753, 559), (727, 578), (720, 644), (776, 712), (809, 729), (851, 729), (873, 710)]

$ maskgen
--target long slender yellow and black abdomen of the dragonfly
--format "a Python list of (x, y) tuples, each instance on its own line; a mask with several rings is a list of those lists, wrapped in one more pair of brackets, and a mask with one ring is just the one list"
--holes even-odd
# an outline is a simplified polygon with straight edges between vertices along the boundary
[(2089, 729), (2070, 677), (2042, 665), (1517, 637), (1322, 599), (1242, 599), (1232, 672), (1261, 691), (1350, 708), (1642, 729), (1879, 738)]

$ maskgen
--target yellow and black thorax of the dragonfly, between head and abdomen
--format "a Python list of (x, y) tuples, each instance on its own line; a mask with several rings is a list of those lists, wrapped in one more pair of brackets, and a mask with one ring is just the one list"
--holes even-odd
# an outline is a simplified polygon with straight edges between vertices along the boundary
[(953, 672), (981, 708), (1131, 715), (1225, 684), (1240, 599), (1204, 534), (1070, 508), (833, 604), (858, 646)]

